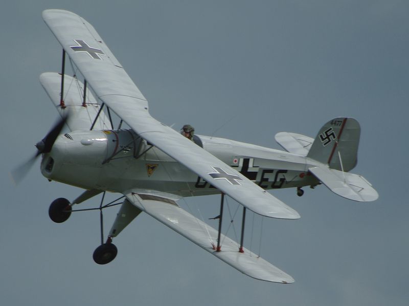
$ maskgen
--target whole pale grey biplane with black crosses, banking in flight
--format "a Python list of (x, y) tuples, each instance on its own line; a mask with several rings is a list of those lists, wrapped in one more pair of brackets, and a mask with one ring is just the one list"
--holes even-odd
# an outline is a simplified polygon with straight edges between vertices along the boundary
[[(290, 283), (291, 276), (243, 247), (246, 209), (266, 217), (300, 218), (266, 189), (294, 187), (301, 196), (303, 186), (322, 183), (350, 200), (378, 198), (367, 180), (348, 172), (357, 162), (360, 127), (355, 119), (332, 119), (315, 139), (278, 133), (276, 141), (286, 151), (199, 135), (188, 139), (151, 117), (147, 100), (92, 25), (63, 10), (46, 10), (42, 16), (60, 42), (63, 57), (62, 73), (43, 73), (40, 82), (62, 119), (36, 144), (34, 158), (12, 175), (20, 181), (42, 155), (44, 177), (85, 189), (72, 202), (59, 198), (51, 204), (49, 214), (57, 223), (69, 218), (75, 204), (97, 194), (123, 195), (105, 243), (102, 209), (111, 203), (101, 202), (97, 208), (101, 211), (101, 245), (94, 252), (97, 264), (115, 258), (113, 237), (146, 212), (248, 276)], [(65, 55), (82, 74), (83, 83), (65, 75)], [(80, 95), (78, 90), (67, 90), (72, 84)], [(112, 125), (110, 110), (121, 119), (118, 128)], [(121, 129), (122, 122), (130, 128)], [(64, 125), (71, 132), (60, 135)], [(182, 197), (216, 193), (221, 194), (218, 230), (177, 204)], [(240, 244), (220, 232), (224, 195), (243, 206)]]

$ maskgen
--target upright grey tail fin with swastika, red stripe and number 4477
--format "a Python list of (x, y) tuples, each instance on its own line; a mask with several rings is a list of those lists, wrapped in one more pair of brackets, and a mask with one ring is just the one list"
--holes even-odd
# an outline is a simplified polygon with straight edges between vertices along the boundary
[(348, 172), (357, 163), (359, 136), (358, 121), (334, 118), (320, 129), (307, 157), (328, 164), (332, 169)]

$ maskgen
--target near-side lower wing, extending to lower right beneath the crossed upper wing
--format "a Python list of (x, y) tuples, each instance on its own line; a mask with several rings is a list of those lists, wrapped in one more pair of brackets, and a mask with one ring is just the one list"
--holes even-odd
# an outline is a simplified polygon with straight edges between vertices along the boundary
[(218, 232), (177, 206), (174, 201), (147, 193), (125, 192), (126, 198), (136, 207), (173, 229), (191, 242), (215, 255), (240, 272), (256, 279), (291, 283), (294, 279), (261, 257), (244, 249), (238, 251), (238, 245), (229, 237), (222, 235), (221, 251), (212, 247), (217, 241)]

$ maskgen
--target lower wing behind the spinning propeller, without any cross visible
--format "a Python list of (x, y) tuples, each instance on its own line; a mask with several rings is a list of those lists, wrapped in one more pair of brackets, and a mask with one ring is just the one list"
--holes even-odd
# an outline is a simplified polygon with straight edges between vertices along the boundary
[[(40, 75), (40, 83), (46, 90), (51, 101), (57, 108), (58, 113), (64, 116), (66, 112), (70, 113), (67, 126), (70, 130), (89, 130), (94, 119), (97, 117), (101, 107), (97, 103), (93, 94), (87, 91), (86, 107), (82, 106), (82, 95), (84, 85), (79, 80), (69, 76), (64, 76), (64, 103), (65, 107), (60, 106), (61, 75), (56, 72), (45, 72)], [(101, 111), (95, 122), (94, 129), (111, 129), (109, 119)]]

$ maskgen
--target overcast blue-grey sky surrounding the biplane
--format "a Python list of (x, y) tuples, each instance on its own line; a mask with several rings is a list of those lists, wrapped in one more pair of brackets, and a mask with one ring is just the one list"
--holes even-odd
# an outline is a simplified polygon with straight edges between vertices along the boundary
[[(261, 232), (261, 256), (290, 274), (291, 285), (249, 278), (144, 214), (115, 239), (117, 258), (96, 265), (98, 212), (63, 224), (48, 216), (54, 199), (82, 191), (48, 182), (39, 161), (18, 187), (8, 176), (58, 116), (38, 80), (61, 65), (59, 43), (41, 17), (50, 8), (92, 24), (151, 115), (177, 128), (190, 123), (197, 134), (279, 148), (278, 132), (315, 137), (334, 117), (356, 118), (361, 141), (352, 172), (373, 184), (379, 200), (356, 203), (325, 186), (305, 188), (302, 198), (294, 189), (275, 191), (301, 219), (255, 216), (246, 247), (258, 252)], [(408, 9), (403, 0), (3, 3), (2, 304), (407, 305)], [(217, 215), (218, 201), (181, 204), (207, 218)], [(228, 202), (233, 213), (237, 204)], [(116, 212), (105, 211), (106, 230)], [(248, 220), (251, 227), (252, 214)]]

